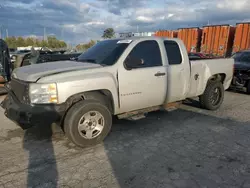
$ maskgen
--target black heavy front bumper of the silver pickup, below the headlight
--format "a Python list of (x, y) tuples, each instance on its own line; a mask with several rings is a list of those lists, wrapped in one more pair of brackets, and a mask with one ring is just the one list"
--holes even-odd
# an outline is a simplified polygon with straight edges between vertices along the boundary
[(51, 125), (64, 115), (65, 105), (28, 105), (21, 103), (12, 91), (1, 103), (5, 116), (22, 129), (33, 126)]

